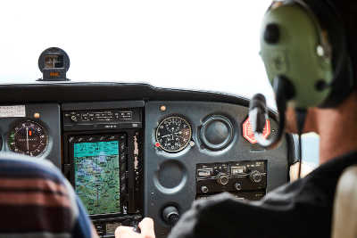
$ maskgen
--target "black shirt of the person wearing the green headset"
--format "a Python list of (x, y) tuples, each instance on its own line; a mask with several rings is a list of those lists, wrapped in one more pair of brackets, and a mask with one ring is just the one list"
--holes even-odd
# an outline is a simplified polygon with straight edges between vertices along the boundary
[(195, 201), (169, 238), (330, 237), (336, 184), (353, 164), (357, 152), (329, 160), (261, 201), (238, 201), (228, 193)]

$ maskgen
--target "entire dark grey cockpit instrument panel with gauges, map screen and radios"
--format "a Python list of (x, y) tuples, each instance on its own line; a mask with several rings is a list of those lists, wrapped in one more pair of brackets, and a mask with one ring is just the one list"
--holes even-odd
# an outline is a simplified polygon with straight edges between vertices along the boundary
[[(0, 107), (16, 103), (21, 112), (0, 108), (1, 151), (53, 161), (103, 237), (153, 217), (163, 238), (196, 199), (228, 192), (259, 200), (287, 181), (294, 142), (286, 137), (265, 151), (246, 139), (242, 98), (143, 85), (43, 86), (38, 98), (38, 86), (0, 86)], [(29, 91), (27, 102), (16, 101), (20, 91)]]

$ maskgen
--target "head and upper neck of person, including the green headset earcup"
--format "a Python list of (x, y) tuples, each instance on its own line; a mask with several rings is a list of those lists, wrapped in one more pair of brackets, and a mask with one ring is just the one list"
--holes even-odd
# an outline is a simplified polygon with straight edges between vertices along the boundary
[(278, 1), (266, 12), (261, 55), (271, 84), (285, 82), (289, 132), (296, 109), (308, 111), (303, 132), (336, 127), (341, 115), (357, 121), (356, 13), (353, 0)]

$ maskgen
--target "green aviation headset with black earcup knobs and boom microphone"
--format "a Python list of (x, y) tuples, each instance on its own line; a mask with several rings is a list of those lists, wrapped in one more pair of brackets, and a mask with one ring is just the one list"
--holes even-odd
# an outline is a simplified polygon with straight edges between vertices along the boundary
[(263, 18), (261, 56), (276, 94), (278, 136), (262, 136), (268, 117), (262, 94), (254, 95), (249, 115), (258, 143), (268, 149), (282, 138), (286, 104), (295, 107), (301, 134), (307, 108), (336, 107), (356, 84), (344, 23), (328, 0), (273, 2)]

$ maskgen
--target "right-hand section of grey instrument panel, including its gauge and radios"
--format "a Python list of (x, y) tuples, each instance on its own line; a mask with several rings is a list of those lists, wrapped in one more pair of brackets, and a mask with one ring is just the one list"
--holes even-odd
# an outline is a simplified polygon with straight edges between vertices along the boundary
[[(170, 120), (169, 128), (162, 128), (162, 121), (172, 115), (185, 120)], [(239, 199), (259, 200), (286, 183), (288, 142), (284, 140), (272, 151), (251, 143), (243, 136), (249, 129), (244, 127), (247, 115), (247, 107), (231, 103), (145, 103), (144, 214), (154, 218), (157, 237), (169, 234), (176, 216), (189, 209), (191, 201), (222, 192), (233, 193)], [(158, 131), (172, 140), (172, 133), (182, 127), (170, 126), (186, 123), (192, 130), (190, 142), (181, 144), (184, 146), (178, 147), (178, 152), (163, 150)], [(270, 119), (269, 136), (275, 136), (277, 128), (277, 121)], [(203, 175), (203, 168), (210, 174), (197, 176), (198, 172)]]

